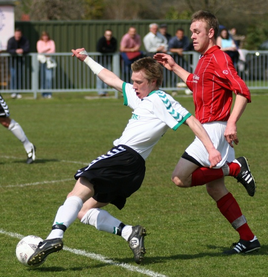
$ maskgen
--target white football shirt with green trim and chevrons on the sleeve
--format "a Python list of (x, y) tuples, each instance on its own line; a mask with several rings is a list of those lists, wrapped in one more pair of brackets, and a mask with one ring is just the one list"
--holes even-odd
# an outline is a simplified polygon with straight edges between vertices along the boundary
[(163, 91), (153, 91), (147, 97), (137, 97), (131, 84), (122, 86), (124, 105), (133, 109), (122, 136), (114, 145), (124, 144), (137, 151), (144, 159), (168, 128), (176, 131), (191, 116), (178, 101)]

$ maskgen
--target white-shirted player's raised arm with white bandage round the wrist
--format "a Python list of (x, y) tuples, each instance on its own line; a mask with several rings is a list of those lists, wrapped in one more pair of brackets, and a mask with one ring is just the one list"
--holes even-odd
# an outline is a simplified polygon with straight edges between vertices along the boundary
[(86, 63), (89, 68), (96, 74), (104, 83), (114, 88), (115, 90), (122, 92), (123, 81), (118, 78), (114, 72), (104, 68), (102, 65), (94, 61), (88, 56), (84, 48), (72, 49), (73, 57), (76, 56), (78, 60)]

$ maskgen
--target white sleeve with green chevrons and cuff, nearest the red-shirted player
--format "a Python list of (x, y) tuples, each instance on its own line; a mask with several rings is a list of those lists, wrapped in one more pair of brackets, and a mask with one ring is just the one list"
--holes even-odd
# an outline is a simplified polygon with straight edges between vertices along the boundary
[(187, 109), (165, 92), (157, 91), (152, 96), (153, 113), (172, 130), (176, 131), (191, 116)]

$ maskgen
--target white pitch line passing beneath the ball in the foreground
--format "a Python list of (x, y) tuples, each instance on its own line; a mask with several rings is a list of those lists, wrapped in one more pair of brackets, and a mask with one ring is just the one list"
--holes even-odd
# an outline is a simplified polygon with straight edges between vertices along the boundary
[[(24, 237), (21, 234), (7, 232), (7, 231), (4, 231), (2, 229), (0, 229), (0, 233), (9, 235), (11, 237), (16, 237), (18, 239), (22, 239)], [(73, 248), (69, 248), (69, 247), (66, 247), (66, 246), (63, 247), (63, 250), (69, 251), (69, 252), (74, 253), (76, 255), (81, 255), (81, 256), (84, 256), (84, 257), (88, 257), (92, 260), (97, 260), (97, 261), (100, 261), (102, 263), (110, 264), (112, 266), (122, 267), (126, 270), (129, 270), (129, 271), (132, 271), (132, 272), (138, 272), (138, 273), (150, 276), (150, 277), (167, 277), (166, 275), (162, 275), (160, 273), (153, 272), (151, 270), (147, 270), (147, 269), (144, 269), (144, 268), (141, 268), (141, 267), (138, 267), (138, 266), (131, 266), (131, 265), (128, 265), (128, 264), (125, 264), (125, 263), (116, 263), (115, 261), (109, 260), (108, 258), (106, 258), (106, 257), (104, 257), (100, 254), (90, 253), (90, 252), (86, 252), (84, 250), (73, 249)]]

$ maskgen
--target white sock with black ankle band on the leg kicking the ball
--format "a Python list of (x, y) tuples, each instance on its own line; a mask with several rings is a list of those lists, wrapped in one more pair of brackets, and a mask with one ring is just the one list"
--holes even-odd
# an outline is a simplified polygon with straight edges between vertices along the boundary
[[(77, 196), (67, 198), (64, 204), (59, 207), (53, 225), (63, 224), (67, 228), (76, 220), (79, 211), (82, 209), (83, 201)], [(47, 239), (60, 237), (63, 238), (64, 231), (55, 229), (50, 232)]]

